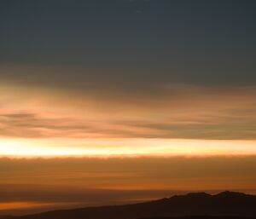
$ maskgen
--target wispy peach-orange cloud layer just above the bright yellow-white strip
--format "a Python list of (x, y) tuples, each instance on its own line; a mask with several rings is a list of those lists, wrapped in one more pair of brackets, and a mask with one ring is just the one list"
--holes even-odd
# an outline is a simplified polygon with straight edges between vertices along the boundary
[[(33, 71), (42, 75), (54, 69), (38, 67)], [(63, 78), (55, 78), (59, 73), (44, 78), (41, 84), (31, 77), (26, 79), (26, 73), (23, 81), (18, 75), (11, 80), (3, 78), (0, 135), (216, 140), (253, 140), (256, 136), (256, 89), (252, 86), (162, 82), (146, 83), (140, 92), (133, 92), (127, 84), (124, 88), (114, 83), (104, 87), (102, 79), (97, 84), (95, 79), (86, 80), (84, 76), (82, 81), (76, 78), (75, 83), (70, 78), (68, 87)], [(37, 72), (34, 78), (41, 80)]]

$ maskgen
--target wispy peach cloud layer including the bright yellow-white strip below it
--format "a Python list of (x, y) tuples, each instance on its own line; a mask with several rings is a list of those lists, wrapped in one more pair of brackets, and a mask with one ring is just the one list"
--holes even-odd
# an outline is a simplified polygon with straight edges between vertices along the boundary
[(256, 153), (253, 86), (157, 80), (139, 89), (140, 80), (121, 83), (93, 75), (86, 78), (84, 69), (77, 70), (73, 78), (76, 70), (70, 66), (3, 68), (0, 155)]

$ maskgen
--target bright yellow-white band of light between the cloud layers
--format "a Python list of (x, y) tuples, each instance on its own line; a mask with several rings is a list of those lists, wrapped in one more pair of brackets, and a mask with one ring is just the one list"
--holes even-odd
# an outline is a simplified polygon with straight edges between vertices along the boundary
[(1, 139), (1, 157), (255, 155), (256, 141), (182, 139)]

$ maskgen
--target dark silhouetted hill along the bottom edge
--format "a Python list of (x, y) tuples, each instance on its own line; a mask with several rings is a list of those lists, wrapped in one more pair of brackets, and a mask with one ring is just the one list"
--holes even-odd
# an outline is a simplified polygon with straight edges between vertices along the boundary
[(210, 216), (221, 216), (218, 219), (256, 217), (256, 196), (233, 192), (216, 195), (189, 193), (140, 204), (55, 210), (17, 216), (15, 219), (162, 219), (160, 216), (172, 216), (172, 219), (176, 219), (175, 216), (188, 216), (186, 218), (189, 219), (213, 219)]

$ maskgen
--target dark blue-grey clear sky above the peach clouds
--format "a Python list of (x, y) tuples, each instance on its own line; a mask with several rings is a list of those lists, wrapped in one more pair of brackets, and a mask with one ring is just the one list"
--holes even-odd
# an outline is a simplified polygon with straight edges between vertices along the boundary
[[(253, 0), (3, 0), (1, 65), (94, 69), (49, 72), (74, 85), (255, 85), (255, 9)], [(49, 78), (2, 77), (20, 74)]]

